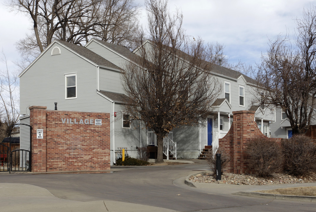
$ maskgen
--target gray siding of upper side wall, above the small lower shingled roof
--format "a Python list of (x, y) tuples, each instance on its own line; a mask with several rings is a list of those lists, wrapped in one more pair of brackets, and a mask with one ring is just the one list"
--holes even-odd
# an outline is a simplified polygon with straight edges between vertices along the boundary
[(124, 93), (121, 73), (114, 70), (99, 70), (99, 88), (103, 91)]

